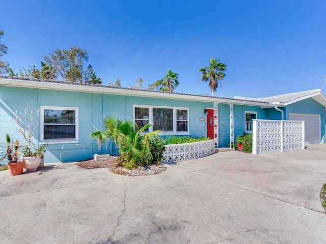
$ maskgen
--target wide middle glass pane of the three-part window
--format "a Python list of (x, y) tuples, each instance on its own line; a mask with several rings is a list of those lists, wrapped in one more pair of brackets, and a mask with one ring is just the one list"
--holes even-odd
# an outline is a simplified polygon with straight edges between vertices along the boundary
[(173, 109), (153, 108), (153, 130), (173, 131)]

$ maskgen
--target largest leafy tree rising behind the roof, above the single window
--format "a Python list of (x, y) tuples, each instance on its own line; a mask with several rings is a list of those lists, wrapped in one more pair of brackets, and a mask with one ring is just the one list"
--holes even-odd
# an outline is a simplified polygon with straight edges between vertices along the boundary
[(57, 49), (45, 56), (44, 60), (52, 65), (57, 71), (56, 74), (67, 82), (86, 83), (89, 81), (90, 76), (87, 76), (87, 70), (84, 70), (84, 66), (88, 62), (88, 53), (85, 49), (77, 46), (73, 46), (70, 50)]

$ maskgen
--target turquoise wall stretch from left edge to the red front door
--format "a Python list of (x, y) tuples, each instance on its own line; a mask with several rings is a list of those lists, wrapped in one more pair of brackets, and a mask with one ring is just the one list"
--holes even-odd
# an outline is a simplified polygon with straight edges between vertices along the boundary
[[(29, 89), (1, 86), (0, 89), (0, 141), (8, 133), (13, 140), (24, 140), (16, 130), (13, 120), (13, 110), (23, 110), (26, 103), (29, 109), (36, 111), (40, 106), (78, 107), (78, 143), (51, 143), (45, 154), (45, 163), (72, 162), (87, 160), (95, 153), (118, 154), (114, 143), (108, 142), (98, 148), (96, 141), (90, 141), (88, 135), (93, 128), (101, 128), (103, 115), (110, 112), (122, 117), (132, 118), (132, 105), (171, 106), (189, 108), (190, 136), (206, 136), (206, 121), (199, 121), (205, 117), (204, 109), (212, 107), (212, 103), (194, 102), (173, 99), (154, 99), (133, 96), (107, 95), (67, 92), (63, 90)], [(206, 119), (205, 119), (206, 120)], [(33, 141), (39, 146), (40, 130), (36, 130)]]

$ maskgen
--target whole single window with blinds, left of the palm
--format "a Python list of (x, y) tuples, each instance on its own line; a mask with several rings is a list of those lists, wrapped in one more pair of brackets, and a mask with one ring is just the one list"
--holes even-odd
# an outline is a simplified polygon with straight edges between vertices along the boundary
[(41, 106), (41, 141), (78, 140), (78, 108)]

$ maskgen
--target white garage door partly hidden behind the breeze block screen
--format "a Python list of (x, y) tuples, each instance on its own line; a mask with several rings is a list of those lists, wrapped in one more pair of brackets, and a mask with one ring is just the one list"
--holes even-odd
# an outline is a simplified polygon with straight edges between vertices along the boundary
[(320, 115), (290, 113), (290, 120), (305, 120), (305, 144), (320, 143)]

